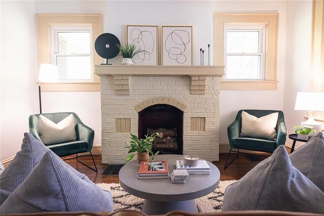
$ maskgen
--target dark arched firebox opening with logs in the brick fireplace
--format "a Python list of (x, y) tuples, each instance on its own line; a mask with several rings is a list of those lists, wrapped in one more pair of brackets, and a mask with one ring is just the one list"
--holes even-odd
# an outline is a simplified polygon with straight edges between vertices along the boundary
[(183, 112), (168, 104), (155, 104), (138, 113), (138, 135), (159, 133), (153, 142), (153, 152), (183, 154)]

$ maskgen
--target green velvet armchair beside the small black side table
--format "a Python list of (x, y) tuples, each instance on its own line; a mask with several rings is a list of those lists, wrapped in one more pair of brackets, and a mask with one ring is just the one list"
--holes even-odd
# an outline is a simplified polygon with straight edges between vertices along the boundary
[[(242, 123), (241, 116), (243, 111), (257, 118), (269, 115), (271, 113), (278, 113), (278, 120), (276, 124), (276, 132), (277, 132), (276, 140), (241, 137), (240, 136), (241, 123)], [(227, 135), (228, 135), (230, 150), (224, 166), (225, 169), (237, 158), (239, 154), (239, 149), (273, 153), (274, 150), (278, 148), (280, 145), (285, 145), (287, 128), (286, 128), (284, 113), (282, 113), (282, 111), (276, 111), (276, 110), (240, 110), (238, 111), (234, 122), (228, 126)], [(237, 152), (232, 151), (232, 149), (237, 149)], [(235, 152), (237, 153), (237, 155), (231, 162), (227, 164), (231, 152)]]

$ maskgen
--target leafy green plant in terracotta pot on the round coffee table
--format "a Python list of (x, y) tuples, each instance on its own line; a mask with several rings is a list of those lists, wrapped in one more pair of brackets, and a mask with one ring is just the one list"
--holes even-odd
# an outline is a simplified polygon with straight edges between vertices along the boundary
[(151, 160), (154, 160), (154, 156), (159, 153), (157, 151), (155, 154), (152, 152), (152, 142), (156, 137), (159, 136), (158, 133), (154, 133), (151, 136), (145, 135), (145, 139), (138, 138), (136, 135), (131, 134), (131, 141), (125, 142), (126, 147), (124, 149), (130, 149), (128, 151), (129, 156), (126, 158), (126, 161), (130, 161), (133, 159), (135, 155), (137, 155), (137, 162), (141, 161), (148, 161), (149, 160), (149, 154), (152, 155)]

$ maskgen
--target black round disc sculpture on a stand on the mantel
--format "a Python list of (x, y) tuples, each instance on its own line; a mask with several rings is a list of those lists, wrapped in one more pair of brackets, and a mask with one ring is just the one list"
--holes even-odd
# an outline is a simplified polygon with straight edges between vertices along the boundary
[(96, 52), (102, 58), (106, 59), (106, 64), (108, 64), (108, 59), (114, 58), (118, 55), (119, 50), (117, 49), (117, 44), (120, 44), (118, 38), (111, 33), (100, 34), (96, 39)]

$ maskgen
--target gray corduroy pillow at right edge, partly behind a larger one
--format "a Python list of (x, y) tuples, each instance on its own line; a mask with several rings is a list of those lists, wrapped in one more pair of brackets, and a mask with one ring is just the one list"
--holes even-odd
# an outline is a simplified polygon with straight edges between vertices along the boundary
[(316, 134), (289, 157), (293, 166), (324, 192), (324, 134)]

